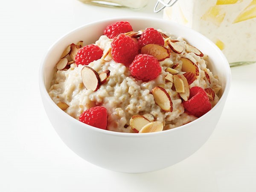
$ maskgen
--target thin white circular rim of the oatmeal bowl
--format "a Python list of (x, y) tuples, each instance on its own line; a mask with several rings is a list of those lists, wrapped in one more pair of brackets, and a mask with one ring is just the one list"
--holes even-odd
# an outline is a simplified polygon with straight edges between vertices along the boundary
[[(92, 24), (96, 24), (96, 23), (108, 23), (108, 22), (116, 22), (117, 20), (150, 20), (153, 22), (164, 22), (164, 23), (172, 23), (172, 25), (177, 25), (179, 28), (187, 30), (189, 33), (195, 33), (197, 34), (200, 38), (204, 39), (204, 41), (207, 41), (208, 44), (211, 44), (213, 49), (218, 52), (219, 56), (221, 57), (221, 59), (223, 60), (223, 67), (225, 68), (226, 73), (226, 84), (225, 84), (225, 89), (222, 93), (222, 96), (220, 98), (220, 100), (218, 101), (218, 103), (206, 114), (204, 114), (203, 116), (199, 117), (198, 119), (195, 119), (192, 122), (189, 122), (188, 124), (185, 125), (181, 125), (177, 128), (173, 128), (173, 129), (169, 129), (169, 130), (164, 130), (164, 131), (159, 131), (159, 132), (153, 132), (153, 133), (143, 133), (143, 134), (134, 134), (134, 133), (123, 133), (123, 132), (115, 132), (115, 131), (109, 131), (109, 130), (104, 130), (104, 129), (100, 129), (100, 128), (95, 128), (91, 125), (87, 125), (83, 122), (78, 121), (77, 119), (73, 118), (72, 116), (68, 115), (67, 113), (65, 113), (64, 111), (62, 111), (60, 108), (58, 108), (58, 106), (55, 104), (55, 102), (53, 102), (53, 100), (51, 99), (51, 97), (49, 96), (48, 92), (47, 92), (47, 88), (45, 87), (44, 84), (44, 66), (46, 65), (46, 59), (49, 56), (49, 52), (51, 52), (51, 50), (55, 47), (56, 44), (58, 44), (59, 42), (62, 41), (62, 39), (66, 38), (67, 36), (71, 35), (72, 33), (81, 30), (83, 28), (86, 28), (87, 26), (90, 26)], [(169, 132), (173, 132), (173, 131), (179, 131), (180, 129), (184, 129), (188, 126), (190, 126), (191, 124), (195, 124), (198, 121), (200, 121), (202, 118), (210, 116), (213, 111), (218, 110), (218, 108), (220, 107), (221, 103), (224, 102), (224, 99), (227, 97), (228, 92), (230, 90), (230, 85), (231, 84), (231, 70), (230, 70), (230, 66), (229, 63), (227, 61), (227, 58), (224, 56), (224, 53), (212, 42), (210, 41), (207, 37), (205, 37), (204, 35), (202, 35), (201, 33), (187, 27), (187, 26), (183, 26), (179, 23), (175, 23), (173, 21), (169, 21), (169, 20), (164, 20), (164, 19), (159, 19), (159, 18), (154, 18), (154, 17), (110, 17), (107, 19), (103, 19), (103, 20), (96, 20), (87, 24), (84, 24), (82, 26), (79, 26), (73, 30), (71, 30), (70, 32), (67, 32), (66, 34), (62, 35), (60, 38), (58, 38), (57, 41), (55, 41), (45, 52), (42, 60), (41, 60), (41, 64), (39, 67), (39, 90), (41, 92), (41, 97), (43, 99), (43, 97), (47, 100), (47, 102), (49, 102), (49, 104), (52, 106), (52, 108), (55, 110), (56, 113), (61, 113), (63, 114), (64, 118), (67, 118), (67, 120), (71, 121), (72, 123), (74, 123), (74, 125), (77, 125), (79, 127), (84, 127), (84, 128), (89, 128), (91, 129), (91, 131), (96, 131), (102, 134), (109, 134), (109, 135), (113, 135), (113, 136), (119, 136), (119, 137), (152, 137), (155, 135), (162, 135), (162, 134), (167, 134)]]

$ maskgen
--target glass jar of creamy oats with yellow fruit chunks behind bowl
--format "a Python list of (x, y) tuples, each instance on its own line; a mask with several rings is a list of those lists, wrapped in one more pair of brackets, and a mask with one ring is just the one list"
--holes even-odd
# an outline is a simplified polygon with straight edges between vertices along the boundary
[(256, 0), (178, 0), (163, 15), (207, 36), (231, 66), (256, 62)]

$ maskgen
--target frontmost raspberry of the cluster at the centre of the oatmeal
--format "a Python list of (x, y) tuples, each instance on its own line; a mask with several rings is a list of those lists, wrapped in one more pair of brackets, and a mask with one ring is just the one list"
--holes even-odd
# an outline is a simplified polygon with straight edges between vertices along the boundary
[(137, 79), (148, 81), (157, 78), (161, 73), (162, 67), (151, 55), (139, 54), (134, 58), (130, 65), (131, 75)]

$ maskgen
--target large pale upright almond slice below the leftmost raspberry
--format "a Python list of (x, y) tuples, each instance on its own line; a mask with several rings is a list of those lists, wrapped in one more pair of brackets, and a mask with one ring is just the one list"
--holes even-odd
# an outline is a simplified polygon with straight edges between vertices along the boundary
[(84, 87), (89, 90), (96, 91), (99, 89), (100, 79), (99, 74), (91, 67), (84, 66), (81, 70), (82, 81)]

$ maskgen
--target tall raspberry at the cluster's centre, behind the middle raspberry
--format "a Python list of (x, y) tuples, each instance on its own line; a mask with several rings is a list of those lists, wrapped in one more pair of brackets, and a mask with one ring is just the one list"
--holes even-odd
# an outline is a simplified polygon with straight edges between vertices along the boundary
[(138, 44), (131, 37), (120, 34), (111, 42), (111, 55), (117, 63), (131, 64), (138, 55)]

